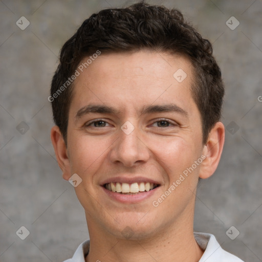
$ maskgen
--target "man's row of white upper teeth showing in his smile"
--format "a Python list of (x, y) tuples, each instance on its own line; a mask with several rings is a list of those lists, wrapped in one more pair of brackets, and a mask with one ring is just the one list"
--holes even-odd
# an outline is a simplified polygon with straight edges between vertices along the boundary
[(133, 183), (133, 184), (127, 184), (127, 183), (107, 183), (105, 185), (105, 188), (118, 193), (138, 193), (138, 192), (144, 192), (149, 191), (150, 189), (153, 189), (157, 185), (154, 183)]

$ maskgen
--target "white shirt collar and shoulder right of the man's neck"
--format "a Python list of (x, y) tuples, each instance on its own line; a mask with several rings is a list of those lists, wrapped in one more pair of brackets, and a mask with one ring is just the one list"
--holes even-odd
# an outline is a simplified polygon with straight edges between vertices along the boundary
[(212, 234), (194, 232), (195, 241), (205, 250), (199, 262), (244, 262), (240, 258), (228, 253), (217, 242)]

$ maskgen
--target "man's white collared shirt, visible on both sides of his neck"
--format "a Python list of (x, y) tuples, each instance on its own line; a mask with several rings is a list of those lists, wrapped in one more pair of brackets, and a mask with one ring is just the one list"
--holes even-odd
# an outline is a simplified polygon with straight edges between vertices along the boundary
[[(199, 262), (244, 262), (222, 249), (212, 234), (194, 232), (194, 238), (198, 245), (205, 250)], [(81, 243), (73, 257), (64, 262), (85, 262), (84, 257), (89, 252), (89, 245), (89, 240)]]

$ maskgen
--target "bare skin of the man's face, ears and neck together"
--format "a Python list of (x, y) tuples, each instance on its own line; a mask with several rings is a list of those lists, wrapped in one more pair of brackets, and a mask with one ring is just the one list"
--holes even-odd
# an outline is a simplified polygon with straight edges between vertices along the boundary
[[(187, 74), (182, 82), (173, 77), (178, 69)], [(203, 250), (193, 236), (195, 191), (199, 178), (210, 177), (219, 163), (225, 128), (217, 122), (203, 144), (201, 115), (190, 91), (192, 79), (188, 59), (149, 50), (101, 54), (76, 78), (68, 145), (57, 126), (51, 139), (63, 178), (69, 180), (77, 173), (82, 179), (75, 191), (91, 239), (86, 261), (193, 262), (201, 258)], [(186, 114), (140, 113), (144, 106), (169, 103)], [(112, 106), (120, 112), (76, 118), (89, 104)], [(100, 119), (105, 122), (89, 125)], [(126, 121), (135, 127), (129, 135), (121, 129)], [(205, 160), (161, 204), (153, 206), (203, 155)], [(142, 176), (160, 186), (143, 201), (121, 203), (108, 197), (101, 186), (116, 176)], [(126, 227), (132, 234), (123, 234)]]

